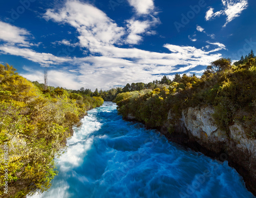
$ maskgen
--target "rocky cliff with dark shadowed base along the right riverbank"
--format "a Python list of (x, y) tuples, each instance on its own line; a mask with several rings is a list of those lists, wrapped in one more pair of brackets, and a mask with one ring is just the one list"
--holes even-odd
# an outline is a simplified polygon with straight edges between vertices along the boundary
[[(225, 161), (240, 173), (247, 188), (256, 195), (256, 140), (245, 133), (245, 127), (234, 122), (229, 134), (215, 124), (209, 106), (189, 107), (182, 111), (182, 118), (168, 113), (165, 124), (158, 128), (170, 141), (200, 151), (211, 158)], [(127, 120), (135, 120), (131, 114)], [(175, 120), (176, 119), (176, 120)]]

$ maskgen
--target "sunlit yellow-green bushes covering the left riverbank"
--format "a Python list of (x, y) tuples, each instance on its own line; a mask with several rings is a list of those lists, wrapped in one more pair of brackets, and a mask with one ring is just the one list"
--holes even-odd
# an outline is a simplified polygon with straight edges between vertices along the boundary
[[(0, 64), (0, 195), (24, 197), (50, 188), (57, 174), (54, 157), (61, 155), (72, 127), (103, 99), (87, 97), (60, 87), (30, 82), (8, 64)], [(5, 170), (8, 171), (5, 171)], [(8, 194), (4, 194), (8, 173)]]

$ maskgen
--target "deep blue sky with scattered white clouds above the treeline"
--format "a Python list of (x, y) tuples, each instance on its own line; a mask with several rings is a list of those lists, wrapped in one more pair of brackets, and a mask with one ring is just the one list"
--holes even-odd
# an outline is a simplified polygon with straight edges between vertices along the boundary
[(0, 2), (0, 63), (31, 81), (109, 90), (256, 52), (254, 0)]

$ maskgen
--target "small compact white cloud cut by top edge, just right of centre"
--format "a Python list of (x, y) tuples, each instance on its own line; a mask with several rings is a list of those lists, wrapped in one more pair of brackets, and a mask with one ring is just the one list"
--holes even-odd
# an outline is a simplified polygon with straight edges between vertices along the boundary
[(128, 2), (135, 8), (137, 14), (149, 14), (155, 8), (153, 0), (128, 0)]

